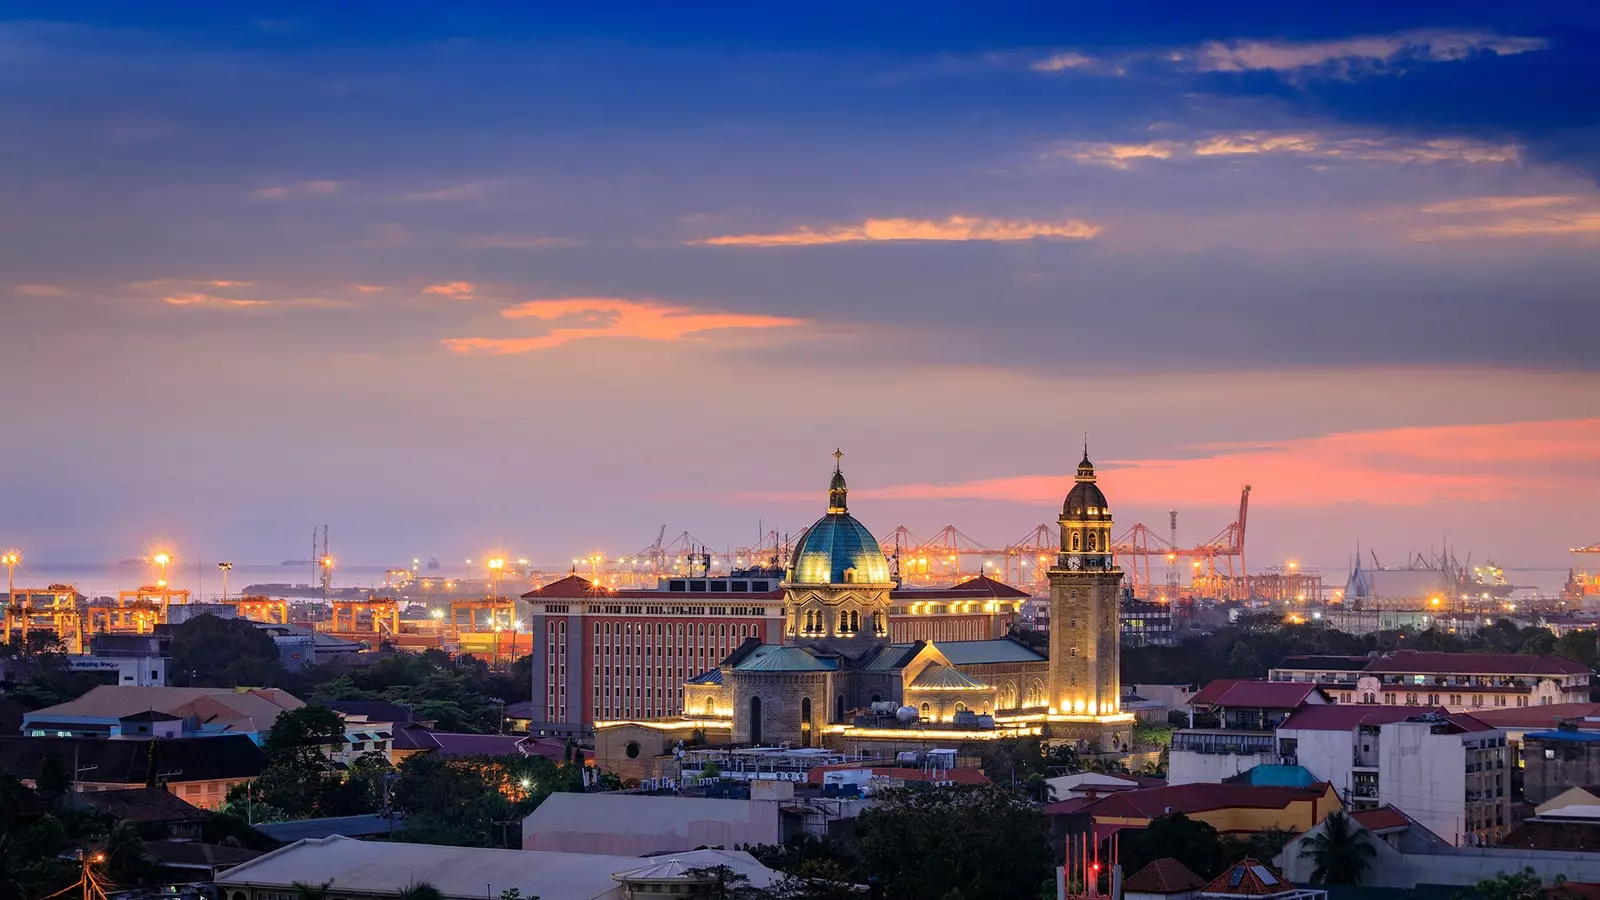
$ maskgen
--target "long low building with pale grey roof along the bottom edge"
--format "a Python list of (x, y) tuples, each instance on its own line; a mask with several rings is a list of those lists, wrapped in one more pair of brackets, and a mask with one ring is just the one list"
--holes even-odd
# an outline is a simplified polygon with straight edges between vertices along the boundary
[(690, 870), (728, 866), (752, 887), (770, 887), (779, 873), (739, 850), (693, 850), (661, 857), (552, 854), (355, 841), (307, 839), (237, 865), (216, 878), (219, 900), (288, 900), (299, 884), (331, 882), (341, 898), (394, 900), (429, 882), (446, 900), (483, 900), (517, 889), (523, 897), (624, 900), (672, 895), (709, 897), (710, 884)]

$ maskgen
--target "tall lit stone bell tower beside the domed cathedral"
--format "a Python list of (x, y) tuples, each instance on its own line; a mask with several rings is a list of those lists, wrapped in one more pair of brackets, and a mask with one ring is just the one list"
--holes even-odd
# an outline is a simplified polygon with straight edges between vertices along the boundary
[(1110, 552), (1110, 506), (1088, 445), (1061, 506), (1061, 552), (1050, 569), (1050, 713), (1122, 713), (1122, 570)]

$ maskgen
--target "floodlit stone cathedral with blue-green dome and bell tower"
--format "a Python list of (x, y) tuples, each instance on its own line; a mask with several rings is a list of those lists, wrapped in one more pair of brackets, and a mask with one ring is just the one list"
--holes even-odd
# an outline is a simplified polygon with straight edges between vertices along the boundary
[[(717, 668), (688, 679), (678, 721), (698, 722), (701, 735), (715, 735), (710, 740), (851, 753), (902, 748), (910, 735), (1029, 735), (1085, 751), (1128, 746), (1133, 716), (1120, 708), (1118, 674), (1122, 572), (1110, 551), (1110, 506), (1088, 450), (1059, 517), (1048, 657), (1011, 639), (891, 642), (890, 612), (915, 591), (898, 591), (877, 538), (850, 514), (848, 495), (835, 453), (827, 511), (784, 569), (782, 642), (747, 639)], [(629, 725), (670, 729), (606, 722), (597, 746), (614, 743), (606, 729)]]

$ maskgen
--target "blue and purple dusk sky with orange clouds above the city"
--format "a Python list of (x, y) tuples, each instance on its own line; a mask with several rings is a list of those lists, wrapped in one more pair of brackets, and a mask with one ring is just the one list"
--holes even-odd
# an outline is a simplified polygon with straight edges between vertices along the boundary
[(1600, 6), (0, 6), (0, 543), (1600, 541)]

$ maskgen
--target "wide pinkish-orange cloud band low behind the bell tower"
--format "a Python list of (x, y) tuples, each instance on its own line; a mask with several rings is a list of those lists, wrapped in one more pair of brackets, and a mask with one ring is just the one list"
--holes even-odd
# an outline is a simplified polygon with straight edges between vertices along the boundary
[[(1600, 490), (1600, 418), (1394, 428), (1195, 447), (1181, 460), (1110, 460), (1101, 482), (1112, 503), (1216, 504), (1254, 487), (1269, 506), (1419, 506), (1434, 501), (1509, 503)], [(1070, 474), (1008, 476), (957, 484), (864, 487), (883, 500), (989, 500), (1051, 506)], [(789, 496), (784, 496), (786, 500)]]

